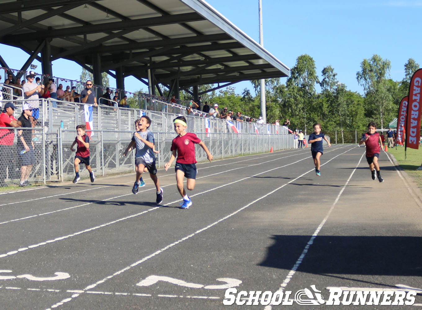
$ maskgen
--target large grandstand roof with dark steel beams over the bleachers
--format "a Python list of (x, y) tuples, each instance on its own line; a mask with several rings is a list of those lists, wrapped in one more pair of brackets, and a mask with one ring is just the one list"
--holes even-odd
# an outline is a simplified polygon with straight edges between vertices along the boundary
[(124, 76), (142, 81), (152, 69), (156, 82), (178, 78), (181, 88), (289, 75), (287, 66), (203, 0), (0, 4), (0, 43), (32, 54), (49, 41), (51, 60), (92, 65), (99, 53), (101, 71), (123, 67)]

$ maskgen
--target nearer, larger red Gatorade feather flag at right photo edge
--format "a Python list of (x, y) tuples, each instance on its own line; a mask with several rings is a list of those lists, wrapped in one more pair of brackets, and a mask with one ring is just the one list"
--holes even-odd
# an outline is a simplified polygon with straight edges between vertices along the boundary
[(419, 134), (421, 130), (421, 84), (422, 69), (417, 70), (411, 80), (409, 86), (409, 97), (407, 105), (406, 119), (406, 148), (419, 148)]

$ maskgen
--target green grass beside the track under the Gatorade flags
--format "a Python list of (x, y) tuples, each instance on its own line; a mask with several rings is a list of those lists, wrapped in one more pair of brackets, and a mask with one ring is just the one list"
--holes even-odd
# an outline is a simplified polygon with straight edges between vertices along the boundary
[(422, 147), (419, 147), (419, 150), (407, 148), (406, 159), (404, 158), (404, 146), (398, 146), (397, 149), (389, 148), (388, 152), (395, 157), (400, 164), (400, 167), (402, 167), (403, 170), (413, 178), (415, 183), (418, 184), (419, 188), (422, 189), (422, 170), (417, 170), (422, 163)]

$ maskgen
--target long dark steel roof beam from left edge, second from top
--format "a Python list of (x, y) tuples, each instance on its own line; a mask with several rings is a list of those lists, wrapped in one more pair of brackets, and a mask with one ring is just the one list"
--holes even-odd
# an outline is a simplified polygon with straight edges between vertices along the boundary
[[(161, 26), (168, 24), (178, 24), (181, 22), (192, 22), (192, 21), (201, 21), (204, 20), (202, 16), (198, 13), (183, 13), (175, 14), (171, 16), (158, 16), (158, 17), (149, 17), (143, 19), (132, 19), (121, 22), (110, 22), (103, 24), (92, 24), (89, 26), (77, 26), (69, 27), (57, 30), (48, 30), (43, 32), (30, 32), (23, 33), (19, 35), (8, 35), (5, 36), (3, 42), (23, 42), (28, 40), (42, 40), (44, 38), (61, 38), (69, 35), (84, 35), (89, 33), (98, 33), (106, 31), (116, 31), (123, 29), (139, 29), (142, 27), (153, 27)], [(30, 35), (28, 35), (30, 34)]]

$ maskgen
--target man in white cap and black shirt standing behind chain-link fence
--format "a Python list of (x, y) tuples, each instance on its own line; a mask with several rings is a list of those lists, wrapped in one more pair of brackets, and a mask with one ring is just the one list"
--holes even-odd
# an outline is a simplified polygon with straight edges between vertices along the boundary
[[(35, 83), (34, 83), (35, 84)], [(22, 115), (19, 117), (18, 121), (21, 122), (21, 127), (34, 127), (34, 122), (31, 121), (32, 118), (32, 108), (27, 103), (22, 105)], [(34, 143), (32, 142), (32, 130), (21, 129), (18, 130), (18, 152), (23, 152), (21, 156), (21, 181), (19, 186), (28, 186), (31, 185), (28, 181), (29, 175), (32, 170), (32, 165), (35, 164), (35, 151)]]

